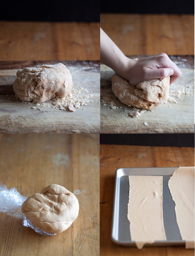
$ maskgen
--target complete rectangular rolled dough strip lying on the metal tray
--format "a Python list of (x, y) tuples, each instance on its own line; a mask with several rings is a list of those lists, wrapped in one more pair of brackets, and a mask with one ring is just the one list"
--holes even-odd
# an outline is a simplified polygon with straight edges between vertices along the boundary
[(162, 216), (162, 176), (129, 176), (129, 185), (131, 240), (139, 249), (146, 243), (166, 240)]

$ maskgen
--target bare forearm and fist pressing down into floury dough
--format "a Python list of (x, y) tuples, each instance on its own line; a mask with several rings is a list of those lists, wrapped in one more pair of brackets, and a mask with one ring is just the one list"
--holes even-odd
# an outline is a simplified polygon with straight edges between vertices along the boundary
[(102, 29), (100, 29), (100, 60), (131, 85), (168, 76), (171, 84), (182, 75), (180, 69), (165, 53), (139, 60), (129, 59)]

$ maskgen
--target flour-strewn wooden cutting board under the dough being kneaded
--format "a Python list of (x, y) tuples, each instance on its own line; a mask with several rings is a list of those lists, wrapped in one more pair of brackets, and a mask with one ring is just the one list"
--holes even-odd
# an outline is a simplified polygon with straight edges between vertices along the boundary
[[(143, 57), (129, 56), (132, 59)], [(101, 133), (194, 133), (194, 56), (170, 58), (182, 71), (182, 77), (170, 85), (174, 102), (167, 102), (152, 112), (147, 110), (138, 118), (128, 115), (133, 107), (114, 97), (111, 82), (114, 71), (101, 65)], [(109, 102), (114, 101), (116, 109), (105, 103), (105, 95), (109, 95)]]

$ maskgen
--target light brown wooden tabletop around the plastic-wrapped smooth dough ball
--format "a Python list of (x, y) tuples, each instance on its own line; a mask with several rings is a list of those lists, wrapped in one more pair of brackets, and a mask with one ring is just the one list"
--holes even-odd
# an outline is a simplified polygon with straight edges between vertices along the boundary
[(74, 192), (79, 215), (65, 231), (42, 236), (0, 214), (0, 255), (99, 255), (99, 135), (0, 134), (0, 181), (23, 196), (50, 184)]

